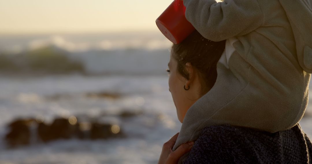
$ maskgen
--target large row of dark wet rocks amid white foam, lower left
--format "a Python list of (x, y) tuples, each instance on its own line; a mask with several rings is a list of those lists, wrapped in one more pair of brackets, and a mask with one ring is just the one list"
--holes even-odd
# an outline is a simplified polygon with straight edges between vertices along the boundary
[[(134, 116), (133, 113), (124, 112), (123, 117)], [(38, 139), (38, 142), (50, 142), (57, 139), (109, 139), (109, 138), (124, 138), (119, 125), (111, 123), (99, 123), (93, 120), (90, 123), (89, 119), (82, 119), (84, 122), (78, 122), (75, 116), (68, 119), (56, 118), (51, 125), (47, 125), (43, 120), (35, 119), (17, 119), (12, 121), (8, 128), (10, 131), (6, 134), (5, 140), (9, 147), (19, 145), (28, 145), (30, 141)], [(106, 120), (107, 121), (107, 120)], [(37, 130), (37, 138), (32, 136), (32, 130)], [(36, 139), (31, 139), (35, 137)], [(36, 142), (36, 141), (35, 141)]]

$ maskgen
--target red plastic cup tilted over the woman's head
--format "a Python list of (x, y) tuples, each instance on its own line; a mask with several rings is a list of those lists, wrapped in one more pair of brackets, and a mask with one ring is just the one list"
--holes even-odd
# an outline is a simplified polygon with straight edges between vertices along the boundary
[(158, 29), (172, 43), (181, 43), (195, 28), (185, 18), (185, 6), (182, 0), (174, 0), (156, 19)]

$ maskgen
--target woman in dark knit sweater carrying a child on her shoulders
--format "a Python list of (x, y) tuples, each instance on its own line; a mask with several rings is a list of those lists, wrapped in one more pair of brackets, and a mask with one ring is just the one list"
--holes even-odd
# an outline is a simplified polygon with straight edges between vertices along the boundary
[[(216, 82), (216, 66), (224, 48), (225, 41), (212, 42), (196, 30), (182, 43), (173, 44), (168, 83), (181, 123), (192, 117), (188, 109)], [(188, 126), (196, 128), (196, 123)], [(187, 134), (178, 135), (163, 145), (159, 164), (312, 162), (312, 144), (299, 124), (276, 133), (232, 125), (207, 126), (193, 137), (195, 142), (181, 145), (176, 144), (178, 137), (181, 141)]]

